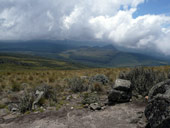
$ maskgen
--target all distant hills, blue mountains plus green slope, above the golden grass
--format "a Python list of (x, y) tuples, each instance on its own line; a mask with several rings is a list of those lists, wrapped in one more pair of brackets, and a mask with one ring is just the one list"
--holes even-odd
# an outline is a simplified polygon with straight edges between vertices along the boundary
[[(170, 61), (139, 53), (117, 50), (112, 45), (91, 46), (76, 41), (28, 41), (22, 43), (0, 42), (2, 68), (14, 66), (27, 69), (77, 69), (84, 67), (133, 67), (168, 65)], [(39, 57), (35, 57), (39, 56)], [(44, 58), (45, 57), (45, 58)], [(21, 59), (18, 59), (21, 58)], [(26, 59), (27, 58), (27, 59)], [(34, 59), (35, 58), (35, 59)], [(48, 59), (46, 59), (48, 58)], [(53, 59), (53, 60), (50, 60)], [(5, 62), (4, 65), (2, 63)], [(7, 66), (8, 64), (8, 66)], [(81, 65), (80, 65), (81, 64)], [(82, 65), (87, 66), (82, 66)]]

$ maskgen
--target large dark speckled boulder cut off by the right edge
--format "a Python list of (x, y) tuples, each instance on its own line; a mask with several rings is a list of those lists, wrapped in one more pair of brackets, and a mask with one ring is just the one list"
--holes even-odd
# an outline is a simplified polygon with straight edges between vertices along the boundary
[(150, 90), (145, 116), (151, 128), (170, 128), (170, 80)]

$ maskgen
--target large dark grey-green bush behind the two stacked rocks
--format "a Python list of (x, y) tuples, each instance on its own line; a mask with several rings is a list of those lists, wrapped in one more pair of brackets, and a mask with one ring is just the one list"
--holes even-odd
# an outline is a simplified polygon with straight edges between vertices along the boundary
[(149, 90), (156, 84), (167, 79), (164, 72), (154, 71), (153, 69), (144, 69), (137, 67), (130, 72), (122, 72), (120, 79), (130, 80), (132, 83), (133, 95), (147, 96)]

